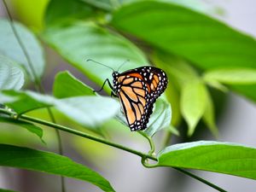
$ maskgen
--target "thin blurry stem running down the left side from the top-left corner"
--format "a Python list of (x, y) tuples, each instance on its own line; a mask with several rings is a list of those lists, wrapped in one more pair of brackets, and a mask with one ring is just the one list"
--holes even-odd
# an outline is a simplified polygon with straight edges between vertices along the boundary
[[(8, 5), (7, 3), (5, 2), (5, 0), (3, 0), (3, 5), (5, 7), (5, 10), (6, 10), (6, 13), (9, 17), (9, 24), (11, 26), (11, 29), (12, 31), (14, 32), (14, 35), (15, 35), (15, 38), (18, 42), (18, 44), (20, 45), (20, 49), (22, 50), (23, 54), (25, 55), (25, 58), (26, 58), (26, 61), (27, 61), (27, 64), (29, 66), (29, 68), (31, 69), (31, 75), (32, 75), (32, 79), (34, 80), (34, 83), (35, 83), (35, 87), (36, 89), (38, 90), (38, 92), (40, 93), (45, 93), (44, 91), (44, 87), (43, 85), (41, 84), (41, 81), (38, 79), (38, 75), (36, 73), (36, 70), (35, 68), (33, 67), (32, 65), (32, 60), (28, 54), (28, 52), (26, 51), (26, 47), (25, 45), (23, 44), (23, 42), (21, 41), (21, 38), (20, 38), (20, 35), (19, 33), (17, 32), (16, 28), (15, 28), (15, 25), (14, 25), (14, 20), (12, 18), (12, 15), (10, 14), (9, 12), (9, 8), (8, 8)], [(28, 74), (30, 74), (29, 72), (27, 72)], [(51, 121), (53, 123), (55, 123), (55, 117), (52, 113), (52, 111), (50, 110), (50, 108), (48, 107), (47, 108), (47, 111), (49, 113), (49, 118), (51, 119)], [(59, 154), (63, 154), (63, 149), (62, 149), (62, 144), (61, 144), (61, 133), (58, 131), (58, 130), (55, 130), (55, 133), (56, 133), (56, 136), (57, 136), (57, 141), (58, 141), (58, 149), (59, 149)], [(61, 177), (61, 191), (62, 192), (65, 192), (66, 191), (66, 188), (65, 188), (65, 181), (64, 181), (64, 177)]]

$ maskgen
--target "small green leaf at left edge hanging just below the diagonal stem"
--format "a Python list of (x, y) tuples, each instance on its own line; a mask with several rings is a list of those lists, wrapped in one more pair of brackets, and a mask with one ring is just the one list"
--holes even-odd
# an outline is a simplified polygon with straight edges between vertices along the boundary
[(43, 130), (41, 129), (41, 127), (37, 125), (33, 125), (32, 123), (28, 123), (24, 120), (10, 119), (10, 118), (1, 117), (1, 116), (0, 116), (0, 123), (8, 123), (8, 124), (17, 125), (19, 127), (25, 128), (27, 131), (30, 131), (33, 134), (37, 135), (41, 139), (42, 143), (45, 143), (42, 138)]

